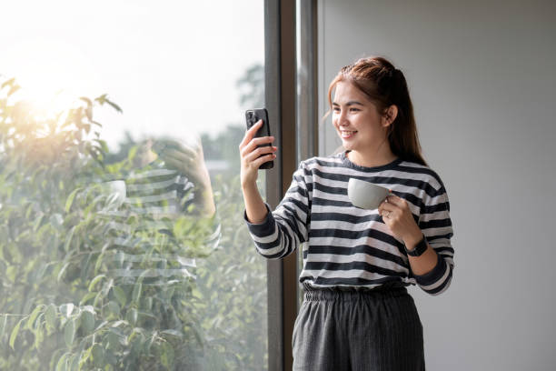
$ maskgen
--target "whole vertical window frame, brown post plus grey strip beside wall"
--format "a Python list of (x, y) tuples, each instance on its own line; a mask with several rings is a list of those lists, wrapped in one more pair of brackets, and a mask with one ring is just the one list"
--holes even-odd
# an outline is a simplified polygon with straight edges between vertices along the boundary
[[(318, 150), (317, 0), (297, 1), (264, 0), (264, 97), (274, 144), (279, 148), (274, 169), (266, 173), (266, 201), (273, 208), (290, 186), (299, 161)], [(296, 16), (300, 17), (299, 34)], [(300, 76), (300, 71), (311, 74)], [(292, 369), (300, 255), (267, 261), (270, 371)]]

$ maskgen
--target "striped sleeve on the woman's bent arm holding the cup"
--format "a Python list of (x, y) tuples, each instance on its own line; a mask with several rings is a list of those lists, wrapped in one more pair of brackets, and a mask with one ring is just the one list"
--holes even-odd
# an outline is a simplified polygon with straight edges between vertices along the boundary
[(417, 284), (426, 293), (436, 296), (444, 292), (452, 282), (453, 236), (450, 219), (450, 202), (444, 186), (423, 200), (419, 226), (429, 245), (437, 253), (438, 261), (431, 272), (415, 276)]

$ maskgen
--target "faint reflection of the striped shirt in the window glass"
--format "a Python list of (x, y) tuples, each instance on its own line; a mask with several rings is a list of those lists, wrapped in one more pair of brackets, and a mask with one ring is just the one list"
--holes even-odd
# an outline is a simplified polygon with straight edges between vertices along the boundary
[(216, 216), (193, 214), (194, 184), (155, 160), (106, 185), (120, 198), (99, 213), (108, 223), (109, 275), (128, 284), (138, 277), (152, 285), (194, 279), (194, 255), (206, 255), (220, 239)]

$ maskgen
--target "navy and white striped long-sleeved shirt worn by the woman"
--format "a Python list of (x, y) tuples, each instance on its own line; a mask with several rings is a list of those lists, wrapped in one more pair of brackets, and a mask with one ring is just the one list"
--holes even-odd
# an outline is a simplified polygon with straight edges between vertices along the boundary
[[(405, 199), (438, 260), (431, 272), (412, 273), (401, 239), (378, 210), (353, 206), (350, 178), (392, 189)], [(282, 258), (303, 244), (300, 283), (313, 287), (418, 285), (431, 295), (452, 280), (450, 203), (442, 180), (429, 167), (397, 159), (388, 165), (353, 164), (345, 152), (303, 161), (281, 203), (261, 224), (247, 220), (257, 251)]]

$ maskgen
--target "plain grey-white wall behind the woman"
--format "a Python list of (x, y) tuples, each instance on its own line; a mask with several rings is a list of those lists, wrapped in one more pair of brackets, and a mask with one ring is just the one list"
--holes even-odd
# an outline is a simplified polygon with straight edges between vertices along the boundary
[[(428, 370), (556, 369), (554, 4), (319, 2), (320, 114), (340, 67), (390, 58), (450, 196), (452, 286), (410, 290)], [(330, 118), (320, 135), (330, 154)]]

